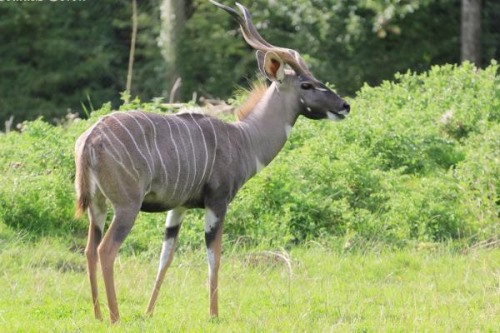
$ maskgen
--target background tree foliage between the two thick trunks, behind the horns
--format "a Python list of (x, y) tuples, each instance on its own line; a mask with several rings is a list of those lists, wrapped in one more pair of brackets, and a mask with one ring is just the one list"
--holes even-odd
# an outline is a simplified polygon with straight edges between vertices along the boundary
[[(185, 98), (193, 91), (227, 96), (235, 80), (245, 85), (244, 74), (255, 71), (254, 55), (234, 20), (207, 1), (194, 3), (179, 48)], [(364, 82), (379, 84), (397, 71), (459, 61), (460, 14), (454, 1), (258, 0), (244, 5), (266, 40), (298, 50), (313, 73), (342, 94), (354, 94)]]

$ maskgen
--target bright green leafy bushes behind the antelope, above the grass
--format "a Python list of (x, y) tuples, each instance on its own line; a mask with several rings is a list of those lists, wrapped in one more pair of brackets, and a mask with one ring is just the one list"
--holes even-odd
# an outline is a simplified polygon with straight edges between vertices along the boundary
[[(400, 74), (363, 87), (350, 103), (355, 112), (341, 123), (299, 119), (284, 151), (230, 206), (226, 241), (279, 247), (340, 240), (345, 249), (498, 243), (496, 63)], [(161, 105), (134, 100), (121, 109), (166, 112)], [(73, 218), (73, 147), (109, 112), (108, 103), (88, 120), (36, 120), (0, 135), (1, 223), (28, 238), (80, 235), (73, 239), (83, 246), (87, 223)], [(164, 220), (140, 214), (126, 251), (156, 253)], [(202, 246), (201, 211), (189, 213), (181, 233), (181, 247)]]

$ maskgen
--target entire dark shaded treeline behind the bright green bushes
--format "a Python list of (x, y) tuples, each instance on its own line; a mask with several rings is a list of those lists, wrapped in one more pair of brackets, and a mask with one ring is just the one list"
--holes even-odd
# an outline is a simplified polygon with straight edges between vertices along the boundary
[[(266, 39), (299, 50), (342, 94), (397, 71), (460, 61), (459, 0), (242, 2)], [(181, 101), (193, 93), (227, 98), (235, 83), (246, 86), (255, 61), (235, 22), (206, 0), (167, 3), (138, 2), (132, 96), (168, 98), (177, 77)], [(168, 10), (182, 15), (171, 19)], [(129, 0), (0, 2), (0, 124), (10, 116), (15, 123), (40, 115), (53, 121), (108, 101), (117, 107), (131, 15)], [(484, 64), (500, 58), (498, 22), (500, 4), (484, 1)]]

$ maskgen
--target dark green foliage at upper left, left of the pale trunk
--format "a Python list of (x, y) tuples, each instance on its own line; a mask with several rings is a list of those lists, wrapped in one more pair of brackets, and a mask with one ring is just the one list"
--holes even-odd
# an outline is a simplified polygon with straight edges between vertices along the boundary
[[(159, 18), (139, 15), (133, 93), (161, 95)], [(130, 48), (130, 1), (0, 2), (0, 121), (52, 121), (82, 104), (120, 102)], [(139, 85), (140, 83), (140, 85)], [(86, 105), (86, 107), (91, 107)], [(2, 126), (3, 127), (3, 126)]]

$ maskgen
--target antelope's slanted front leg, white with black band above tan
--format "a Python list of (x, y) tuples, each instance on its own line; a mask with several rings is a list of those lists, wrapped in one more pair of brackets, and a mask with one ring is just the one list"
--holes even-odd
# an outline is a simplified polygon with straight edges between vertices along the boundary
[(165, 223), (165, 239), (161, 248), (160, 265), (158, 267), (158, 274), (156, 275), (155, 285), (151, 298), (149, 299), (147, 315), (152, 315), (155, 309), (156, 299), (160, 292), (161, 284), (165, 278), (165, 273), (172, 263), (174, 257), (175, 245), (179, 236), (179, 229), (181, 227), (182, 218), (184, 217), (184, 209), (177, 208), (168, 212), (167, 222)]

